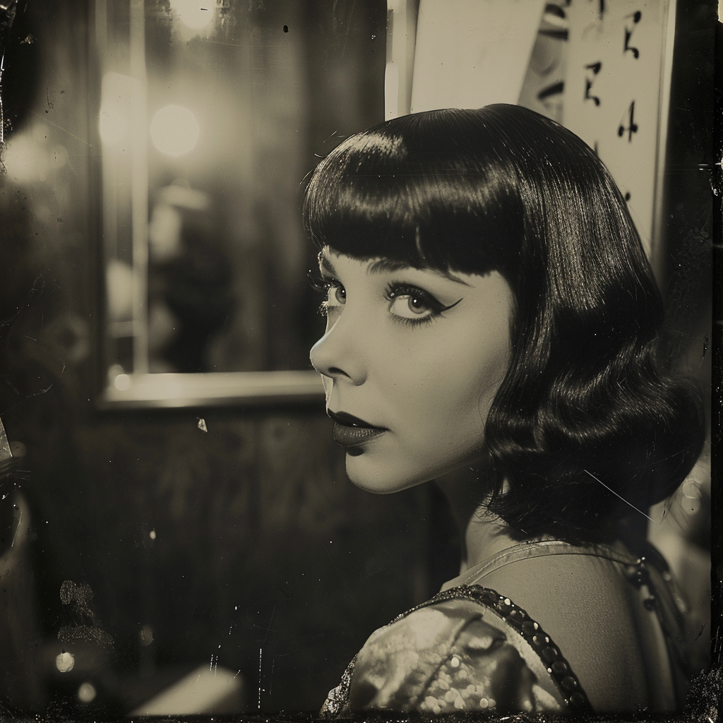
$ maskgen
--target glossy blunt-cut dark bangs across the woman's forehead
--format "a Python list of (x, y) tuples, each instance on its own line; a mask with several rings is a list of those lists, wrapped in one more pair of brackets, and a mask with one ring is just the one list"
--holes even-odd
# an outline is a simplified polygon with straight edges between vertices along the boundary
[(406, 116), (335, 148), (309, 181), (307, 233), (317, 247), (354, 258), (498, 270), (511, 283), (524, 233), (515, 169), (479, 120), (473, 129), (463, 111), (426, 116), (424, 129)]

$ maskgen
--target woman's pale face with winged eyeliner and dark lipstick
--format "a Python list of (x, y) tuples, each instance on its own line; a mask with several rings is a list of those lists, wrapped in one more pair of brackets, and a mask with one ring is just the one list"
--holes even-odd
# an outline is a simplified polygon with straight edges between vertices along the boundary
[(513, 294), (502, 276), (356, 260), (326, 247), (323, 375), (346, 471), (395, 492), (473, 463), (510, 363)]

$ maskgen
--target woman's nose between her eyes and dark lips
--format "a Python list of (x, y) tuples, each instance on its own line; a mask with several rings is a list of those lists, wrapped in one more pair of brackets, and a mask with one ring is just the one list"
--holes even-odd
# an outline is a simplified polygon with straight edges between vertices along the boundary
[(333, 380), (359, 386), (367, 379), (363, 332), (350, 309), (344, 309), (334, 325), (312, 346), (309, 359), (317, 372)]

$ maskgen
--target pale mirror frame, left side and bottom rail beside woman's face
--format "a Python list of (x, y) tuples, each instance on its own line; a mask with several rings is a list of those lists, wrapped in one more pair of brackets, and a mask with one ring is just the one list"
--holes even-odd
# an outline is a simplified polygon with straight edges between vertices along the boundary
[[(95, 126), (96, 140), (102, 147), (98, 133), (98, 121), (102, 105), (101, 78), (108, 72), (104, 67), (107, 52), (108, 4), (112, 0), (94, 0), (89, 4), (90, 27), (95, 27), (95, 38), (91, 33), (90, 77), (94, 87), (91, 90), (90, 113), (93, 114), (91, 127)], [(132, 129), (145, 132), (145, 127), (134, 127), (145, 117), (145, 1), (126, 0), (129, 8), (128, 49), (130, 54), (129, 78), (135, 85), (132, 91), (134, 107), (132, 111)], [(136, 95), (140, 90), (141, 95)], [(132, 319), (120, 322), (137, 329), (145, 323), (147, 304), (147, 249), (144, 248), (147, 238), (147, 159), (145, 152), (132, 153), (132, 251), (133, 251), (133, 283), (136, 290)], [(313, 369), (261, 372), (199, 372), (199, 373), (151, 373), (147, 371), (147, 333), (134, 335), (133, 372), (121, 373), (116, 377), (108, 375), (113, 360), (108, 359), (108, 301), (107, 281), (103, 281), (105, 264), (109, 260), (108, 249), (103, 239), (116, 234), (119, 218), (114, 202), (109, 203), (103, 190), (103, 153), (97, 156), (98, 168), (98, 231), (100, 264), (100, 369), (99, 389), (96, 406), (100, 409), (123, 408), (200, 408), (218, 406), (258, 406), (286, 405), (295, 403), (322, 404), (325, 398), (320, 375)]]

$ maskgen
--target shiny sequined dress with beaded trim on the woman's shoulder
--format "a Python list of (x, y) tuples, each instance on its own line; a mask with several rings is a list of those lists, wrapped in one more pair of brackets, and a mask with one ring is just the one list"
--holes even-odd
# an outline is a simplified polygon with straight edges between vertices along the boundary
[(667, 656), (648, 681), (650, 707), (679, 709), (688, 684), (681, 634), (685, 604), (659, 553), (650, 546), (642, 552), (636, 556), (620, 545), (575, 547), (560, 540), (502, 550), (376, 630), (330, 690), (322, 716), (375, 709), (594, 712), (564, 651), (542, 625), (510, 598), (479, 585), (493, 570), (549, 555), (592, 555), (616, 566), (635, 599), (654, 616), (651, 629), (659, 637), (654, 646)]

